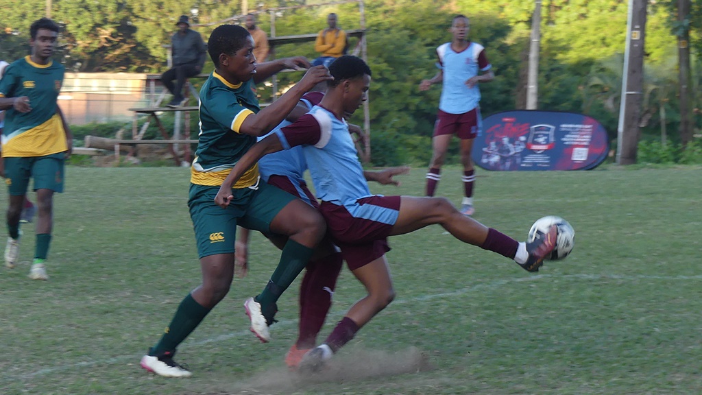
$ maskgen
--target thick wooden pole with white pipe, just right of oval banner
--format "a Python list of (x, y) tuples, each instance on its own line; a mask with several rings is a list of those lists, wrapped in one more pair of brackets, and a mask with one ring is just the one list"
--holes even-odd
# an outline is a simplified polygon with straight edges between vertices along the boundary
[(646, 6), (647, 0), (629, 0), (621, 105), (617, 128), (616, 162), (618, 164), (636, 163), (644, 84)]

